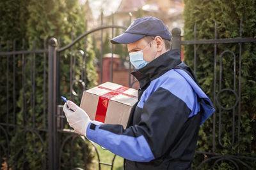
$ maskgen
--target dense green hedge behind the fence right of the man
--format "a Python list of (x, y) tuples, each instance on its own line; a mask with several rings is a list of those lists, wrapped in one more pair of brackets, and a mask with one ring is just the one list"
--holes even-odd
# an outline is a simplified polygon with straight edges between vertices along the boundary
[[(251, 0), (243, 1), (199, 1), (184, 0), (184, 39), (194, 39), (194, 25), (196, 23), (196, 39), (214, 39), (214, 22), (217, 26), (217, 38), (239, 38), (239, 24), (242, 20), (242, 36), (254, 37), (256, 33), (256, 2)], [(234, 71), (234, 57), (231, 53), (221, 53), (225, 50), (231, 50), (235, 53), (236, 66)], [(193, 67), (194, 46), (185, 46), (185, 62)], [(241, 124), (238, 127), (238, 105), (234, 109), (235, 129), (234, 129), (234, 145), (230, 148), (223, 146), (232, 145), (232, 117), (233, 110), (223, 110), (221, 106), (230, 108), (236, 104), (236, 96), (229, 91), (220, 92), (220, 89), (234, 89), (236, 94), (239, 92), (239, 44), (219, 44), (217, 45), (216, 57), (216, 96), (214, 102), (214, 45), (196, 45), (196, 76), (198, 81), (211, 97), (216, 107), (216, 132), (215, 132), (215, 152), (223, 155), (240, 155), (248, 157), (256, 157), (256, 87), (255, 76), (256, 69), (253, 66), (256, 60), (255, 43), (242, 44), (241, 56)], [(222, 64), (222, 67), (220, 67)], [(221, 70), (222, 69), (222, 70)], [(220, 74), (221, 71), (221, 74)], [(221, 82), (220, 82), (221, 76)], [(234, 87), (234, 84), (236, 85)], [(220, 94), (218, 95), (218, 93)], [(217, 103), (218, 101), (218, 103)], [(219, 129), (221, 112), (221, 131)], [(213, 116), (209, 118), (200, 127), (200, 136), (198, 139), (197, 150), (202, 152), (213, 152), (212, 150), (212, 126)], [(240, 130), (240, 133), (238, 132)], [(240, 137), (240, 145), (238, 148), (238, 136)], [(221, 136), (219, 136), (221, 134)], [(219, 141), (220, 138), (220, 141)], [(197, 167), (203, 160), (209, 158), (209, 155), (196, 154), (193, 166)], [(211, 169), (215, 160), (204, 164), (203, 169)], [(242, 160), (251, 167), (256, 167), (255, 162), (250, 160)], [(244, 169), (243, 164), (239, 164)], [(221, 161), (214, 169), (233, 169), (234, 164), (229, 161)]]

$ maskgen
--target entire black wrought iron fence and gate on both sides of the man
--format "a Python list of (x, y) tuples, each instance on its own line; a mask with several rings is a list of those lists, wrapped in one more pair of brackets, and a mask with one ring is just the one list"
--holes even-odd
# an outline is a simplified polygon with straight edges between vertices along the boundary
[[(114, 23), (114, 20), (112, 20)], [(130, 18), (131, 22), (131, 18)], [(26, 146), (26, 137), (28, 136), (34, 136), (35, 139), (32, 143), (34, 143), (33, 148), (31, 148), (31, 151), (35, 153), (35, 158), (38, 157), (40, 162), (42, 163), (42, 169), (60, 169), (61, 164), (61, 155), (63, 153), (63, 150), (65, 148), (65, 143), (67, 143), (68, 140), (72, 141), (72, 145), (74, 144), (74, 141), (79, 138), (84, 141), (84, 145), (86, 145), (86, 139), (78, 136), (77, 134), (74, 134), (74, 132), (70, 129), (64, 129), (65, 124), (65, 116), (62, 112), (62, 105), (60, 101), (60, 60), (61, 57), (63, 57), (62, 53), (69, 50), (70, 52), (70, 96), (67, 96), (68, 99), (74, 99), (74, 97), (77, 96), (77, 93), (73, 89), (74, 83), (79, 83), (83, 90), (86, 89), (86, 46), (87, 41), (86, 37), (91, 34), (92, 32), (99, 31), (101, 34), (101, 47), (102, 47), (102, 31), (104, 29), (111, 29), (112, 36), (113, 36), (113, 29), (119, 28), (119, 29), (125, 29), (123, 26), (118, 25), (101, 25), (97, 29), (92, 29), (91, 31), (86, 31), (83, 35), (79, 36), (78, 38), (74, 39), (72, 43), (70, 43), (67, 46), (60, 47), (58, 46), (58, 41), (55, 38), (51, 38), (49, 40), (49, 46), (47, 48), (46, 46), (46, 40), (44, 41), (44, 49), (43, 50), (25, 50), (24, 48), (20, 51), (15, 51), (15, 41), (12, 44), (13, 50), (10, 50), (9, 43), (7, 43), (7, 51), (6, 52), (0, 52), (0, 59), (1, 62), (4, 61), (6, 63), (6, 73), (5, 75), (1, 77), (1, 84), (5, 85), (6, 87), (6, 94), (1, 94), (1, 96), (6, 96), (6, 101), (1, 101), (1, 104), (6, 105), (6, 110), (1, 110), (1, 119), (0, 119), (0, 135), (1, 135), (1, 141), (0, 141), (0, 163), (1, 167), (4, 169), (17, 169), (17, 164), (22, 164), (22, 168), (26, 169), (26, 163), (28, 163), (29, 158), (26, 157), (26, 152), (28, 152), (28, 148)], [(195, 28), (196, 30), (196, 28)], [(216, 32), (216, 31), (215, 31)], [(194, 58), (194, 71), (196, 72), (196, 45), (201, 44), (212, 44), (214, 45), (214, 106), (221, 107), (220, 104), (218, 104), (218, 94), (216, 94), (216, 55), (217, 55), (217, 48), (216, 45), (221, 43), (239, 43), (240, 50), (239, 50), (239, 75), (238, 81), (239, 81), (239, 89), (241, 89), (241, 45), (243, 43), (255, 43), (255, 38), (236, 38), (236, 39), (217, 39), (215, 35), (215, 39), (207, 39), (207, 40), (196, 40), (196, 36), (194, 40), (190, 41), (181, 41), (180, 40), (180, 29), (173, 29), (172, 30), (172, 48), (179, 48), (181, 45), (194, 45), (195, 46), (195, 58)], [(74, 46), (76, 43), (79, 43), (83, 41), (84, 48), (79, 48), (78, 50), (74, 49)], [(23, 41), (23, 46), (25, 46), (25, 43)], [(0, 49), (1, 51), (1, 49)], [(227, 50), (220, 54), (222, 56), (225, 53), (232, 53), (234, 55), (234, 52)], [(43, 70), (42, 74), (36, 73), (36, 57), (40, 55), (40, 57), (44, 57), (44, 64), (42, 64)], [(48, 55), (48, 59), (47, 59)], [(81, 57), (82, 60), (82, 66), (81, 68), (81, 74), (76, 75), (76, 59), (77, 57)], [(17, 63), (17, 60), (21, 61), (20, 63)], [(101, 58), (100, 58), (100, 82), (102, 82), (102, 50), (101, 50)], [(10, 64), (12, 63), (12, 64)], [(11, 67), (10, 67), (11, 66)], [(131, 65), (130, 65), (131, 70)], [(21, 79), (15, 80), (15, 74), (20, 74)], [(41, 76), (43, 89), (42, 89), (42, 103), (44, 103), (44, 106), (47, 106), (47, 108), (42, 108), (42, 118), (39, 120), (36, 120), (36, 101), (35, 96), (38, 95), (36, 93), (36, 78)], [(78, 77), (78, 78), (77, 78)], [(112, 46), (112, 62), (111, 62), (111, 81), (113, 80), (113, 46)], [(129, 77), (129, 85), (132, 85), (132, 80)], [(20, 91), (17, 91), (17, 89), (20, 89)], [(237, 120), (238, 124), (241, 124), (241, 103), (240, 103), (240, 97), (241, 97), (241, 91), (236, 91), (234, 89), (220, 89), (219, 93), (223, 90), (229, 90), (230, 92), (233, 92), (236, 96), (236, 104), (232, 106), (233, 108), (238, 108), (238, 117), (239, 120)], [(31, 94), (30, 96), (27, 95), (27, 91), (29, 91)], [(18, 93), (22, 94), (22, 101), (17, 101), (16, 96)], [(11, 97), (12, 96), (12, 97)], [(28, 102), (26, 102), (28, 101)], [(29, 103), (30, 105), (28, 106)], [(22, 112), (22, 117), (17, 117), (17, 104), (20, 105), (20, 112)], [(9, 109), (11, 108), (11, 109)], [(226, 108), (223, 108), (224, 110)], [(229, 109), (229, 108), (228, 108)], [(232, 162), (236, 169), (239, 169), (239, 166), (237, 163), (242, 164), (244, 168), (247, 169), (254, 169), (255, 167), (251, 167), (249, 164), (246, 164), (243, 162), (243, 159), (248, 159), (255, 161), (255, 157), (244, 157), (242, 155), (239, 155), (239, 129), (237, 134), (237, 155), (228, 155), (228, 154), (221, 154), (215, 152), (216, 147), (216, 139), (215, 139), (215, 129), (216, 129), (216, 114), (221, 113), (214, 113), (213, 115), (213, 139), (212, 139), (212, 152), (196, 152), (196, 154), (204, 154), (207, 155), (209, 158), (205, 159), (198, 167), (197, 169), (200, 169), (204, 164), (207, 164), (209, 160), (214, 160), (214, 164), (220, 162), (221, 160), (228, 160), (229, 162)], [(221, 122), (221, 121), (220, 121)], [(40, 123), (40, 126), (38, 124)], [(220, 126), (220, 125), (219, 125)], [(18, 136), (15, 137), (15, 139), (12, 138), (15, 134), (19, 133)], [(220, 133), (221, 131), (219, 131)], [(62, 134), (67, 134), (65, 138), (61, 138)], [(220, 136), (220, 135), (219, 135)], [(235, 136), (233, 132), (233, 136)], [(22, 145), (16, 145), (17, 141), (22, 140)], [(11, 142), (14, 141), (14, 142)], [(14, 145), (13, 145), (14, 143)], [(38, 144), (39, 143), (39, 144)], [(37, 145), (42, 146), (42, 151), (37, 150)], [(94, 144), (92, 143), (93, 147)], [(72, 148), (72, 147), (71, 147)], [(74, 150), (70, 150), (70, 157), (72, 157), (75, 153)], [(97, 149), (96, 149), (97, 152)], [(86, 155), (86, 150), (83, 150), (83, 153)], [(13, 160), (10, 160), (10, 155), (14, 154), (15, 157)], [(20, 160), (20, 157), (22, 157), (21, 163), (17, 160)], [(85, 156), (84, 156), (85, 157)], [(104, 162), (100, 161), (99, 154), (97, 153), (97, 160), (99, 161), (99, 169), (102, 164), (105, 164), (107, 166), (110, 166), (113, 168), (113, 162), (115, 160), (115, 157), (113, 157), (112, 164), (106, 164)], [(71, 158), (71, 166), (70, 169), (76, 169), (78, 167), (73, 166), (73, 159)], [(86, 167), (86, 160), (84, 159), (84, 167)], [(20, 167), (20, 166), (19, 166)], [(80, 167), (81, 168), (81, 167)]]

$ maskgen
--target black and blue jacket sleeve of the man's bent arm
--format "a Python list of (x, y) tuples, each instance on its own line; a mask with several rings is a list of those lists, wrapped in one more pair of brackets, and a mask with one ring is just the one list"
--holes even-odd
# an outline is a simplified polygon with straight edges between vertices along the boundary
[(191, 113), (187, 101), (194, 103), (195, 96), (191, 97), (191, 94), (194, 94), (193, 90), (185, 90), (181, 96), (177, 96), (159, 87), (147, 98), (142, 108), (137, 106), (136, 109), (141, 110), (138, 125), (123, 129), (122, 125), (93, 121), (87, 128), (86, 136), (120, 157), (149, 162), (163, 156), (179, 136)]

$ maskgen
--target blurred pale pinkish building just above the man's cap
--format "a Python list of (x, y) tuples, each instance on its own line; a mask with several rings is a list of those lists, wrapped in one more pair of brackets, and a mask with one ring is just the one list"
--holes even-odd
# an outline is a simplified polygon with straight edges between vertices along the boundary
[[(128, 26), (131, 12), (132, 20), (152, 16), (163, 20), (170, 31), (174, 27), (182, 29), (184, 26), (183, 9), (182, 0), (122, 0), (115, 12), (115, 24)], [(106, 18), (111, 20), (111, 17)]]

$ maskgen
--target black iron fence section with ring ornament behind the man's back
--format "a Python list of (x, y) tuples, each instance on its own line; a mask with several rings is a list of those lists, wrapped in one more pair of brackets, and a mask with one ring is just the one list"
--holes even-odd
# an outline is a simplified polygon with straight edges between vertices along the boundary
[[(222, 160), (227, 160), (228, 162), (230, 162), (231, 164), (233, 164), (234, 168), (239, 169), (239, 165), (241, 164), (244, 168), (247, 169), (255, 169), (256, 167), (252, 167), (249, 164), (246, 164), (243, 160), (250, 160), (252, 162), (254, 162), (256, 160), (255, 157), (246, 157), (240, 154), (240, 145), (241, 145), (241, 132), (240, 132), (240, 127), (241, 127), (241, 78), (242, 78), (242, 74), (241, 74), (241, 67), (242, 67), (242, 45), (243, 43), (255, 43), (256, 42), (256, 38), (243, 38), (242, 37), (242, 22), (240, 22), (240, 27), (239, 27), (239, 38), (229, 38), (229, 39), (217, 39), (217, 25), (216, 22), (214, 24), (214, 39), (196, 39), (196, 23), (195, 23), (195, 27), (194, 27), (194, 39), (193, 40), (186, 40), (186, 41), (181, 41), (181, 36), (180, 36), (180, 29), (179, 28), (175, 28), (172, 30), (172, 35), (173, 35), (173, 48), (179, 48), (180, 46), (185, 46), (185, 45), (193, 45), (194, 46), (194, 66), (193, 66), (193, 71), (194, 73), (196, 73), (196, 67), (198, 66), (196, 64), (196, 57), (197, 57), (197, 53), (196, 53), (196, 46), (197, 45), (213, 45), (214, 48), (214, 78), (213, 78), (213, 104), (214, 106), (217, 108), (218, 112), (215, 112), (213, 114), (213, 124), (212, 124), (212, 152), (196, 152), (196, 154), (203, 154), (206, 155), (206, 157), (208, 157), (207, 159), (205, 159), (203, 162), (200, 163), (200, 165), (198, 167), (196, 167), (196, 169), (200, 169), (204, 166), (204, 164), (207, 164), (207, 162), (210, 161), (214, 161), (214, 163), (212, 164), (212, 169), (216, 166), (216, 164), (218, 164), (219, 162), (221, 162)], [(236, 43), (239, 45), (239, 53), (238, 53), (238, 62), (239, 62), (239, 66), (237, 66), (237, 62), (236, 62), (236, 54), (235, 52), (233, 52), (232, 50), (224, 50), (223, 52), (219, 52), (219, 56), (220, 56), (220, 60), (217, 60), (217, 56), (218, 56), (218, 50), (217, 50), (217, 45), (223, 45), (223, 44), (230, 44), (230, 43)], [(229, 67), (224, 67), (222, 66), (222, 60), (223, 60), (223, 55), (230, 53), (233, 57), (233, 61), (234, 61), (234, 67), (229, 68)], [(206, 59), (206, 58), (205, 58)], [(220, 67), (219, 75), (217, 76), (218, 72), (216, 67)], [(237, 74), (237, 69), (238, 68), (238, 74)], [(221, 89), (221, 82), (222, 80), (222, 74), (223, 72), (229, 72), (230, 74), (233, 74), (233, 88), (225, 88), (225, 89)], [(237, 86), (237, 81), (238, 80), (238, 90), (236, 88)], [(219, 87), (217, 89), (217, 87)], [(235, 97), (235, 103), (233, 106), (230, 107), (226, 107), (221, 105), (220, 102), (220, 96), (221, 93), (223, 92), (231, 92), (232, 94), (234, 94)], [(221, 122), (221, 114), (223, 114), (223, 110), (227, 111), (227, 110), (231, 110), (232, 111), (232, 143), (228, 146), (224, 146), (223, 142), (221, 141), (221, 133), (223, 133), (223, 129), (221, 129), (221, 126), (223, 125), (223, 122)], [(218, 124), (216, 121), (216, 115), (218, 114)], [(237, 120), (235, 120), (235, 115), (237, 114)], [(235, 133), (235, 124), (237, 124), (237, 134)], [(218, 139), (216, 139), (216, 129), (218, 128)], [(235, 142), (236, 141), (236, 142)], [(217, 143), (221, 146), (221, 148), (231, 148), (232, 146), (235, 145), (236, 143), (236, 150), (237, 150), (237, 154), (236, 155), (230, 155), (230, 154), (222, 154), (222, 153), (218, 153), (216, 152), (216, 145)]]

